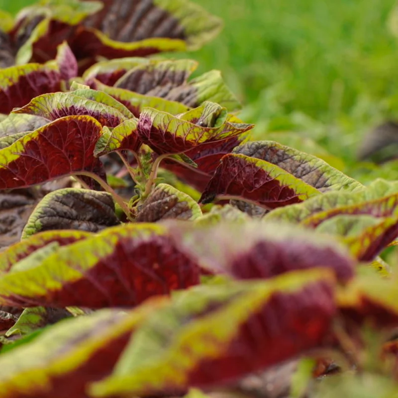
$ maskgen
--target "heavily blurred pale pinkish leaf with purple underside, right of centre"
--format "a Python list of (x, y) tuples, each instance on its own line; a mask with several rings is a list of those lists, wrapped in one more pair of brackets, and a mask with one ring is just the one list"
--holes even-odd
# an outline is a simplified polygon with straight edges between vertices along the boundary
[(341, 281), (353, 276), (354, 259), (337, 239), (291, 225), (223, 221), (179, 226), (172, 233), (176, 244), (200, 266), (239, 279), (271, 278), (314, 267), (331, 268)]

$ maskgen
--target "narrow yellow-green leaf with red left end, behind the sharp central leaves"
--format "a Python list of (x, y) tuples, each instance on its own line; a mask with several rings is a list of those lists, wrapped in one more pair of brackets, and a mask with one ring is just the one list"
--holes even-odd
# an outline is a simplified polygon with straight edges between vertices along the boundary
[(138, 94), (129, 90), (119, 89), (117, 87), (109, 87), (96, 80), (91, 83), (90, 87), (112, 96), (115, 100), (119, 101), (129, 109), (135, 117), (139, 117), (144, 107), (155, 108), (173, 115), (187, 112), (190, 109), (188, 106), (183, 105), (180, 102)]

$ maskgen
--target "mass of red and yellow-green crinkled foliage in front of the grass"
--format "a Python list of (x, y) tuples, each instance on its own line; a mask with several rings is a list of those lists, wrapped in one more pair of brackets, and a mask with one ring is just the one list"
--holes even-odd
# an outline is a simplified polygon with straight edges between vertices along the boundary
[(342, 392), (367, 375), (397, 394), (379, 257), (396, 182), (253, 141), (219, 72), (149, 57), (219, 31), (198, 5), (43, 0), (8, 20), (0, 214), (24, 218), (0, 236), (1, 397), (250, 395), (303, 357), (301, 396), (331, 365), (354, 370)]

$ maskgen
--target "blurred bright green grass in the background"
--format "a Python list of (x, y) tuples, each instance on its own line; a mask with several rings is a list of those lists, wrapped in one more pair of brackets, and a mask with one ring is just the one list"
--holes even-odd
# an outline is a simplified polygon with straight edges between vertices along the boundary
[(353, 167), (364, 132), (398, 117), (398, 40), (387, 27), (395, 0), (196, 1), (225, 26), (189, 56), (198, 73), (222, 71), (245, 104), (241, 117), (257, 123), (256, 138), (296, 131), (304, 149), (312, 138)]

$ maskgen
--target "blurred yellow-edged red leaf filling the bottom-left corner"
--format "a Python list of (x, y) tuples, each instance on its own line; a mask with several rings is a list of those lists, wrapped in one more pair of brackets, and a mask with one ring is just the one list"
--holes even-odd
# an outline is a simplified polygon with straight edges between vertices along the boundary
[[(63, 320), (0, 355), (0, 389), (9, 397), (88, 397), (88, 383), (108, 375), (144, 311), (104, 309)], [(5, 396), (4, 396), (5, 397)]]

